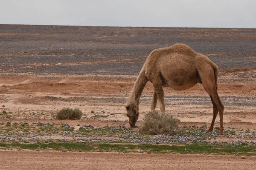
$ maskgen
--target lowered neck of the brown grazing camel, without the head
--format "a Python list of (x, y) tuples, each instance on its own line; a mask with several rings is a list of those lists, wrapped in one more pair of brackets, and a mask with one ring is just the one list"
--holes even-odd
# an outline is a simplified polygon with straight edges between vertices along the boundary
[(142, 70), (140, 71), (139, 76), (137, 77), (137, 80), (134, 84), (134, 88), (131, 91), (131, 94), (129, 97), (130, 101), (132, 101), (132, 100), (139, 101), (140, 100), (140, 95), (142, 94), (142, 91), (145, 88), (145, 85), (147, 84), (147, 82), (148, 82), (148, 79), (145, 75), (145, 70), (143, 67)]

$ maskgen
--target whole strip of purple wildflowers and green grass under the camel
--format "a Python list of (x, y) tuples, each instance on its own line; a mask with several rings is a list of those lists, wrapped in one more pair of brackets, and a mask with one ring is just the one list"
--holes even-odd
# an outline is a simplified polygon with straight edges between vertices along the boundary
[[(183, 128), (186, 130), (184, 136), (152, 136), (138, 133), (138, 128), (123, 125), (105, 127), (79, 125), (77, 127), (67, 123), (8, 121), (0, 122), (0, 149), (256, 156), (255, 129), (244, 130), (245, 136), (242, 136), (241, 129), (227, 127), (226, 134), (219, 136), (216, 133), (218, 127), (215, 127), (212, 133), (204, 132), (207, 129), (206, 125), (202, 127), (183, 126)], [(50, 139), (53, 134), (58, 140), (43, 140)], [(213, 139), (223, 137), (230, 139), (229, 142), (212, 142)], [(245, 138), (248, 142), (244, 140)], [(209, 139), (212, 140), (209, 141)]]

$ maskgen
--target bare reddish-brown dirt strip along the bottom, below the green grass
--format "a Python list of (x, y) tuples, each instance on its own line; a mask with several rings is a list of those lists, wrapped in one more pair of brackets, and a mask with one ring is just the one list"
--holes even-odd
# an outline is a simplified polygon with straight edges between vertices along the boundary
[(255, 170), (256, 157), (0, 151), (2, 170)]

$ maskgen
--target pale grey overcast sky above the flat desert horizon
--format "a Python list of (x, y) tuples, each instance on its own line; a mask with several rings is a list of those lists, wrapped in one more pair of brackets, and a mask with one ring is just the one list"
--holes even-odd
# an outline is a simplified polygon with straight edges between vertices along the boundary
[(256, 0), (0, 0), (0, 24), (256, 28)]

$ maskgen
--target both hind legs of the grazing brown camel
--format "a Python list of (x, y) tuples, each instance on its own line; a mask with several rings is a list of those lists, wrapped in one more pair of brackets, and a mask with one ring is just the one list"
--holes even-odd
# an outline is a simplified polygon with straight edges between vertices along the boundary
[(223, 112), (224, 105), (221, 102), (221, 99), (218, 96), (217, 88), (215, 85), (215, 75), (213, 70), (204, 70), (199, 71), (199, 76), (202, 80), (202, 84), (204, 86), (204, 90), (211, 96), (212, 105), (213, 105), (213, 118), (212, 123), (209, 129), (206, 132), (210, 132), (213, 129), (213, 125), (215, 122), (215, 118), (217, 114), (220, 115), (220, 134), (223, 134)]

